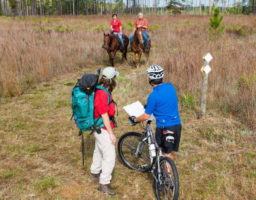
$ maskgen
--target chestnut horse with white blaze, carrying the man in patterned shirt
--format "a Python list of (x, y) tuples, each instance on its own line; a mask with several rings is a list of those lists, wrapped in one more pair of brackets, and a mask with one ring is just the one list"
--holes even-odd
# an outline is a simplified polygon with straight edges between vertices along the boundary
[[(149, 48), (147, 49), (145, 40), (143, 38), (142, 28), (137, 28), (131, 44), (131, 50), (133, 51), (133, 64), (138, 68), (141, 61), (141, 54), (144, 53), (146, 58), (149, 58), (149, 50), (151, 47), (151, 41), (149, 39)], [(135, 55), (138, 54), (138, 64), (135, 64)]]

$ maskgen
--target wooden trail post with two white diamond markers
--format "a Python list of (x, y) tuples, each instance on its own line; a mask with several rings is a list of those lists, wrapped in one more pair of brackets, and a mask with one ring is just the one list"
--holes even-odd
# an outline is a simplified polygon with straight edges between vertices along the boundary
[(211, 71), (209, 62), (213, 59), (211, 54), (205, 53), (203, 56), (203, 66), (202, 71), (202, 88), (201, 88), (201, 105), (200, 105), (200, 117), (205, 117), (205, 107), (206, 107), (206, 91), (208, 82), (208, 73)]

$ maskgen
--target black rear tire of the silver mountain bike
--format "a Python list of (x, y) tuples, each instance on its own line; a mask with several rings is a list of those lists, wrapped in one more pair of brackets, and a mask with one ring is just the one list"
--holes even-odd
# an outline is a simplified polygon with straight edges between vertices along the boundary
[[(172, 200), (177, 200), (179, 197), (179, 175), (178, 175), (178, 170), (177, 167), (175, 165), (175, 163), (173, 162), (173, 160), (169, 157), (162, 157), (159, 160), (159, 164), (161, 165), (162, 162), (168, 162), (169, 165), (171, 166), (171, 169), (173, 170), (173, 176), (174, 176), (174, 193), (173, 193), (173, 199)], [(158, 170), (155, 169), (155, 176), (158, 178)], [(161, 195), (160, 195), (160, 187), (158, 185), (158, 182), (154, 179), (154, 184), (155, 184), (155, 197), (157, 198), (157, 200), (163, 200), (161, 199)], [(169, 199), (169, 198), (168, 198)]]

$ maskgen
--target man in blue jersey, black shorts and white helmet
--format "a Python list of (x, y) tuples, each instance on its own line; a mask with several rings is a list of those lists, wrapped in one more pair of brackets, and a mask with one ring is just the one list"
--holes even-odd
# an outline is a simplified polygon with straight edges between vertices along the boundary
[[(178, 151), (181, 138), (181, 119), (176, 91), (171, 83), (163, 83), (164, 72), (159, 65), (150, 66), (147, 69), (147, 76), (149, 84), (153, 86), (153, 92), (147, 99), (145, 113), (139, 117), (131, 116), (129, 119), (133, 123), (143, 122), (153, 113), (157, 125), (156, 141), (162, 147), (163, 155), (174, 160), (174, 151)], [(174, 132), (174, 143), (168, 144), (163, 141), (163, 129)]]

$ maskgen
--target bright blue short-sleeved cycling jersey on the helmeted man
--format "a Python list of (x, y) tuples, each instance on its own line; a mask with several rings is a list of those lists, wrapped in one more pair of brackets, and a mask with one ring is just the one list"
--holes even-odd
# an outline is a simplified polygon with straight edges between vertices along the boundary
[(154, 114), (157, 127), (181, 124), (176, 91), (171, 83), (155, 86), (147, 99), (145, 113)]

